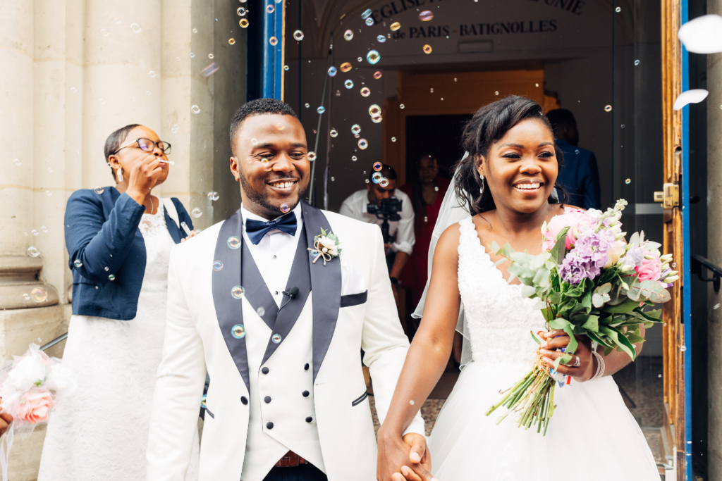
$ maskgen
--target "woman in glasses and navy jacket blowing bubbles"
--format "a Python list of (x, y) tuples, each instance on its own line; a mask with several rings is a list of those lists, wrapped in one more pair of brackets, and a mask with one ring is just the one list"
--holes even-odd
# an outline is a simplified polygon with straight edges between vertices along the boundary
[[(145, 479), (168, 257), (186, 240), (180, 224), (192, 229), (178, 199), (151, 195), (168, 177), (169, 153), (154, 131), (126, 125), (105, 141), (116, 187), (78, 190), (68, 200), (73, 316), (63, 362), (78, 390), (51, 415), (39, 481)], [(196, 441), (188, 480), (197, 479), (197, 462)]]

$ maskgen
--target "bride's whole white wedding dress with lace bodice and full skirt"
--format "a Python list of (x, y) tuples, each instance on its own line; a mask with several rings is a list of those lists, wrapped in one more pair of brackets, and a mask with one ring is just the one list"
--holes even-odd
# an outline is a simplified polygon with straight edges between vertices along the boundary
[(472, 361), (461, 372), (430, 438), (432, 472), (440, 481), (659, 481), (644, 435), (611, 376), (554, 392), (547, 436), (517, 428), (500, 407), (484, 415), (531, 367), (544, 328), (484, 252), (471, 219), (460, 222), (458, 286), (466, 312)]

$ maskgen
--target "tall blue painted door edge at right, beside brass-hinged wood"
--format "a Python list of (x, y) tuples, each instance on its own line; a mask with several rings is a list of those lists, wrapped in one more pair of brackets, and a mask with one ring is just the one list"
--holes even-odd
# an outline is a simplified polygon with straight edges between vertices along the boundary
[[(688, 0), (681, 0), (680, 26), (687, 23)], [(682, 92), (690, 89), (690, 54), (682, 45)], [(692, 481), (692, 273), (690, 265), (690, 106), (682, 109), (682, 242), (684, 249), (684, 479)], [(678, 446), (677, 449), (680, 449)]]

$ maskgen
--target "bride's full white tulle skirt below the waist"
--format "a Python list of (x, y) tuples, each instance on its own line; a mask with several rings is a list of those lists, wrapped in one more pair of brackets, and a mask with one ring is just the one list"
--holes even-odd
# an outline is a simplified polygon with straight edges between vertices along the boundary
[[(432, 473), (440, 481), (659, 481), (639, 425), (611, 376), (557, 386), (547, 436), (516, 427), (513, 414), (487, 408), (529, 370), (484, 367), (461, 372), (431, 433)], [(542, 428), (543, 431), (543, 428)]]

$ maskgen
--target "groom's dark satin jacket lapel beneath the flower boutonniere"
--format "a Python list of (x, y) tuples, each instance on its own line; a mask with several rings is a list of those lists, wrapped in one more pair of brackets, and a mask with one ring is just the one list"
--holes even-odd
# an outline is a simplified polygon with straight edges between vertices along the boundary
[[(306, 229), (308, 245), (313, 246), (313, 238), (324, 230), (331, 230), (326, 216), (319, 209), (303, 202), (303, 225)], [(343, 239), (341, 239), (343, 243)], [(342, 254), (343, 255), (343, 254)], [(331, 259), (323, 265), (323, 259), (313, 264), (313, 257), (307, 253), (310, 268), (311, 290), (313, 291), (313, 380), (316, 381), (323, 358), (329, 351), (331, 339), (336, 330), (341, 306), (341, 260)], [(359, 345), (360, 349), (361, 346)]]

